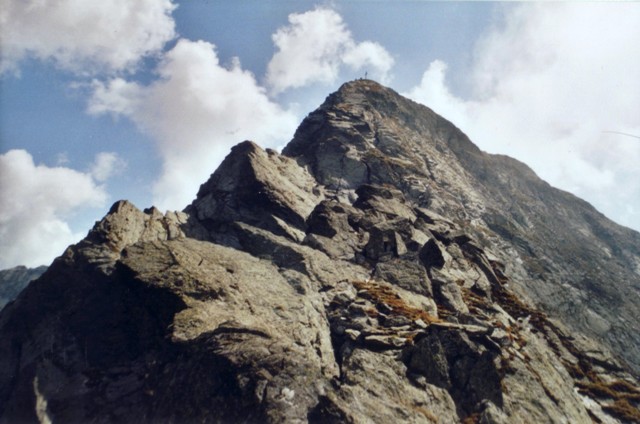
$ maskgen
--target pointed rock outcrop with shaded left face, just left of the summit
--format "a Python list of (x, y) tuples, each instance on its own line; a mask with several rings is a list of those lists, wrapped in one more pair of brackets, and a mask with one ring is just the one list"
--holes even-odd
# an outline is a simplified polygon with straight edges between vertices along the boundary
[(186, 212), (206, 228), (204, 238), (243, 222), (300, 241), (321, 199), (318, 183), (295, 161), (245, 141), (231, 149)]

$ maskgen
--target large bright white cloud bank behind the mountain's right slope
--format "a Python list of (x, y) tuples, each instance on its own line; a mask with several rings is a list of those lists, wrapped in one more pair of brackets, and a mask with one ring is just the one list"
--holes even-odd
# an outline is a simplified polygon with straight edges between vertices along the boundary
[(527, 3), (477, 44), (473, 95), (451, 93), (434, 61), (407, 94), (485, 150), (640, 229), (640, 5)]

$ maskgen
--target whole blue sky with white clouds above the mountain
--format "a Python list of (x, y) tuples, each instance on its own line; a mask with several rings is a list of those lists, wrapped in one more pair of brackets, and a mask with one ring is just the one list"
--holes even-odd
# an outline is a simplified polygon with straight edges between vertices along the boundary
[(640, 3), (0, 0), (0, 31), (0, 268), (184, 208), (365, 72), (640, 229)]

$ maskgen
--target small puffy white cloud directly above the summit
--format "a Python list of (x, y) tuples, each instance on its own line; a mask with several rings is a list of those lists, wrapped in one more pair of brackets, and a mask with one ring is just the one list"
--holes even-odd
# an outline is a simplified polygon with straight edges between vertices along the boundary
[(342, 17), (334, 10), (316, 8), (289, 15), (289, 25), (273, 35), (278, 51), (267, 67), (267, 84), (277, 94), (311, 83), (330, 83), (343, 65), (366, 69), (387, 82), (393, 57), (380, 44), (357, 43)]

